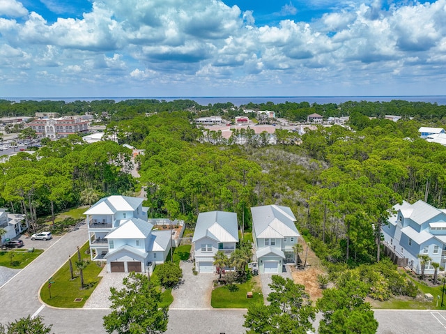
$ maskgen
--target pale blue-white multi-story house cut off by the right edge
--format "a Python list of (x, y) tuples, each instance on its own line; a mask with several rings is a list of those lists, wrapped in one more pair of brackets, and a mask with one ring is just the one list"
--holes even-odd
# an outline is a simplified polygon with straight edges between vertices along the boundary
[(431, 262), (446, 265), (446, 209), (435, 208), (422, 200), (410, 204), (403, 201), (393, 207), (396, 212), (382, 227), (384, 242), (399, 256), (408, 259), (408, 266), (421, 273), (418, 255), (431, 257), (424, 273), (432, 274)]

